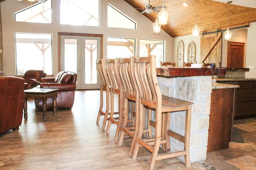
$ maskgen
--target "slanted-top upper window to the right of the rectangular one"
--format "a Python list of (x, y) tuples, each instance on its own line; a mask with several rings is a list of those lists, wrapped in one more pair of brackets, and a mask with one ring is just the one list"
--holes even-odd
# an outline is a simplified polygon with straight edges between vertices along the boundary
[(136, 23), (108, 4), (108, 27), (136, 29)]

